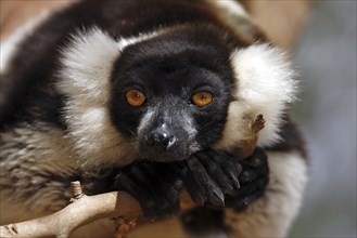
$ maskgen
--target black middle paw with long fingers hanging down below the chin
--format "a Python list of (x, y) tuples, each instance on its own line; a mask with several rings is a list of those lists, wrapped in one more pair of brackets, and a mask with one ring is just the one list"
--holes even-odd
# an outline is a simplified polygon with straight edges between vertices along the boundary
[(224, 151), (208, 149), (187, 160), (183, 184), (193, 201), (214, 207), (225, 206), (225, 196), (240, 188), (242, 167), (237, 158)]

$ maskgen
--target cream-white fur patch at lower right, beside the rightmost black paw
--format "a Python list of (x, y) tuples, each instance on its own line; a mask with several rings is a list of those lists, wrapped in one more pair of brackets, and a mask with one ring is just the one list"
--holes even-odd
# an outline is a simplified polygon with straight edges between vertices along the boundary
[(298, 153), (268, 153), (269, 184), (265, 195), (244, 212), (226, 210), (232, 237), (286, 237), (302, 206), (308, 181)]

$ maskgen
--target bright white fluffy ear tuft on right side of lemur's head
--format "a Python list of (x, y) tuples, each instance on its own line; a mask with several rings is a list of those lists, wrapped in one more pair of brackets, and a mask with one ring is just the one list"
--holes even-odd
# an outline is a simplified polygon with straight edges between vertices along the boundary
[(268, 102), (291, 103), (295, 98), (295, 72), (280, 49), (254, 44), (234, 52), (231, 63), (239, 84), (239, 98), (260, 106), (268, 106)]

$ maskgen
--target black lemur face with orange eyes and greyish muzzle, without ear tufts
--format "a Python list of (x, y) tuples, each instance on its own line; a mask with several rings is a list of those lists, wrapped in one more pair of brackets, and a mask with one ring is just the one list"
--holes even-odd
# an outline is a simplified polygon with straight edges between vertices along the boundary
[(112, 120), (122, 134), (137, 136), (141, 158), (181, 160), (221, 136), (231, 100), (229, 54), (190, 42), (144, 41), (115, 64)]

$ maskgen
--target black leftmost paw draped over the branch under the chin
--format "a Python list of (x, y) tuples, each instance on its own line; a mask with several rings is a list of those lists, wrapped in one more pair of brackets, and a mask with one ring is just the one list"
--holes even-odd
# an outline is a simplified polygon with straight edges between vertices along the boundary
[(181, 184), (176, 167), (150, 161), (127, 166), (117, 175), (115, 188), (132, 195), (148, 219), (174, 215), (179, 211)]

